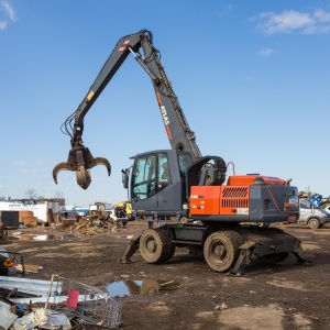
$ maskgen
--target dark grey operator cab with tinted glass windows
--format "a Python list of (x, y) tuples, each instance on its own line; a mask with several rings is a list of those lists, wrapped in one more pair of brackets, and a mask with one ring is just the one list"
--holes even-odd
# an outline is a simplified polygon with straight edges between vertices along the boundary
[(194, 162), (191, 153), (160, 150), (132, 158), (133, 167), (122, 172), (122, 182), (136, 216), (186, 216), (186, 173)]

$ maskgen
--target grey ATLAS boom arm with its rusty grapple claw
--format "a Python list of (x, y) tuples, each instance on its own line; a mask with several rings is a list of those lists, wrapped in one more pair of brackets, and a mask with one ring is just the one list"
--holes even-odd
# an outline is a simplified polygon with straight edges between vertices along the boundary
[[(141, 48), (143, 56), (139, 53)], [(67, 134), (72, 138), (72, 150), (67, 162), (55, 166), (53, 170), (55, 183), (57, 183), (58, 172), (63, 169), (76, 172), (77, 183), (84, 189), (87, 189), (90, 184), (89, 169), (91, 167), (105, 165), (108, 169), (108, 175), (110, 175), (111, 166), (108, 160), (102, 157), (94, 158), (89, 150), (82, 144), (84, 118), (129, 54), (133, 54), (152, 79), (172, 148), (190, 152), (195, 161), (201, 158), (195, 141), (195, 133), (190, 130), (177, 97), (172, 89), (160, 59), (160, 52), (153, 45), (152, 33), (147, 30), (142, 30), (139, 33), (125, 35), (119, 40), (78, 109), (64, 123)], [(75, 122), (72, 127), (73, 119), (75, 119)]]

